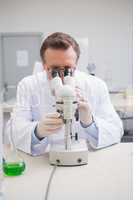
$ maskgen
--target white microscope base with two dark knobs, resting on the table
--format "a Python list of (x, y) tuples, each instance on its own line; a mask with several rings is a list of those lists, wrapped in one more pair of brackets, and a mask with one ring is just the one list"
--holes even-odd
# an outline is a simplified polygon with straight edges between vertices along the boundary
[(79, 166), (88, 163), (88, 147), (85, 140), (72, 142), (71, 149), (66, 150), (64, 145), (53, 145), (49, 152), (51, 165)]

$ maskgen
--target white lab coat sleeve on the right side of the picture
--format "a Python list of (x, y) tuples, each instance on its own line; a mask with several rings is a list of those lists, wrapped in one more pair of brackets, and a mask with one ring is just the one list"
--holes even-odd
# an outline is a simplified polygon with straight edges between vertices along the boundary
[(101, 81), (98, 88), (97, 109), (95, 113), (92, 113), (97, 127), (97, 141), (93, 137), (93, 129), (85, 129), (88, 133), (89, 143), (94, 149), (119, 143), (123, 135), (123, 125), (110, 101), (106, 84)]

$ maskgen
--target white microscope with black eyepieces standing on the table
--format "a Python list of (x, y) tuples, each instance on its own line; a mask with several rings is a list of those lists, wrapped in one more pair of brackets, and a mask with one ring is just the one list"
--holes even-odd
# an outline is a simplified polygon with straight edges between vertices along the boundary
[(56, 98), (56, 111), (64, 122), (63, 144), (53, 144), (49, 152), (51, 165), (79, 166), (88, 163), (88, 147), (85, 139), (79, 138), (74, 123), (79, 123), (78, 104), (76, 101), (75, 80), (72, 70), (65, 68), (63, 79), (58, 70), (52, 71), (51, 89)]

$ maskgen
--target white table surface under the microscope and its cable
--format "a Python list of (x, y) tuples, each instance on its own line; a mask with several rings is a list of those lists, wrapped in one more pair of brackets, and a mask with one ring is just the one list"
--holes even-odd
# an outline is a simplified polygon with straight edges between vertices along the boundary
[[(43, 200), (53, 169), (48, 155), (21, 154), (27, 169), (22, 176), (6, 177), (9, 200)], [(88, 165), (58, 167), (49, 200), (133, 200), (133, 143), (121, 143), (89, 152)]]

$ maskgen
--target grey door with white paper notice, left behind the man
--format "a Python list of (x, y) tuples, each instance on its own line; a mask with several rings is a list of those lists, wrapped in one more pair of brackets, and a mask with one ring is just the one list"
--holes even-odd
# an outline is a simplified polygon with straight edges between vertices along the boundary
[(41, 33), (2, 35), (2, 67), (4, 100), (16, 96), (16, 86), (31, 75), (34, 63), (40, 60)]

